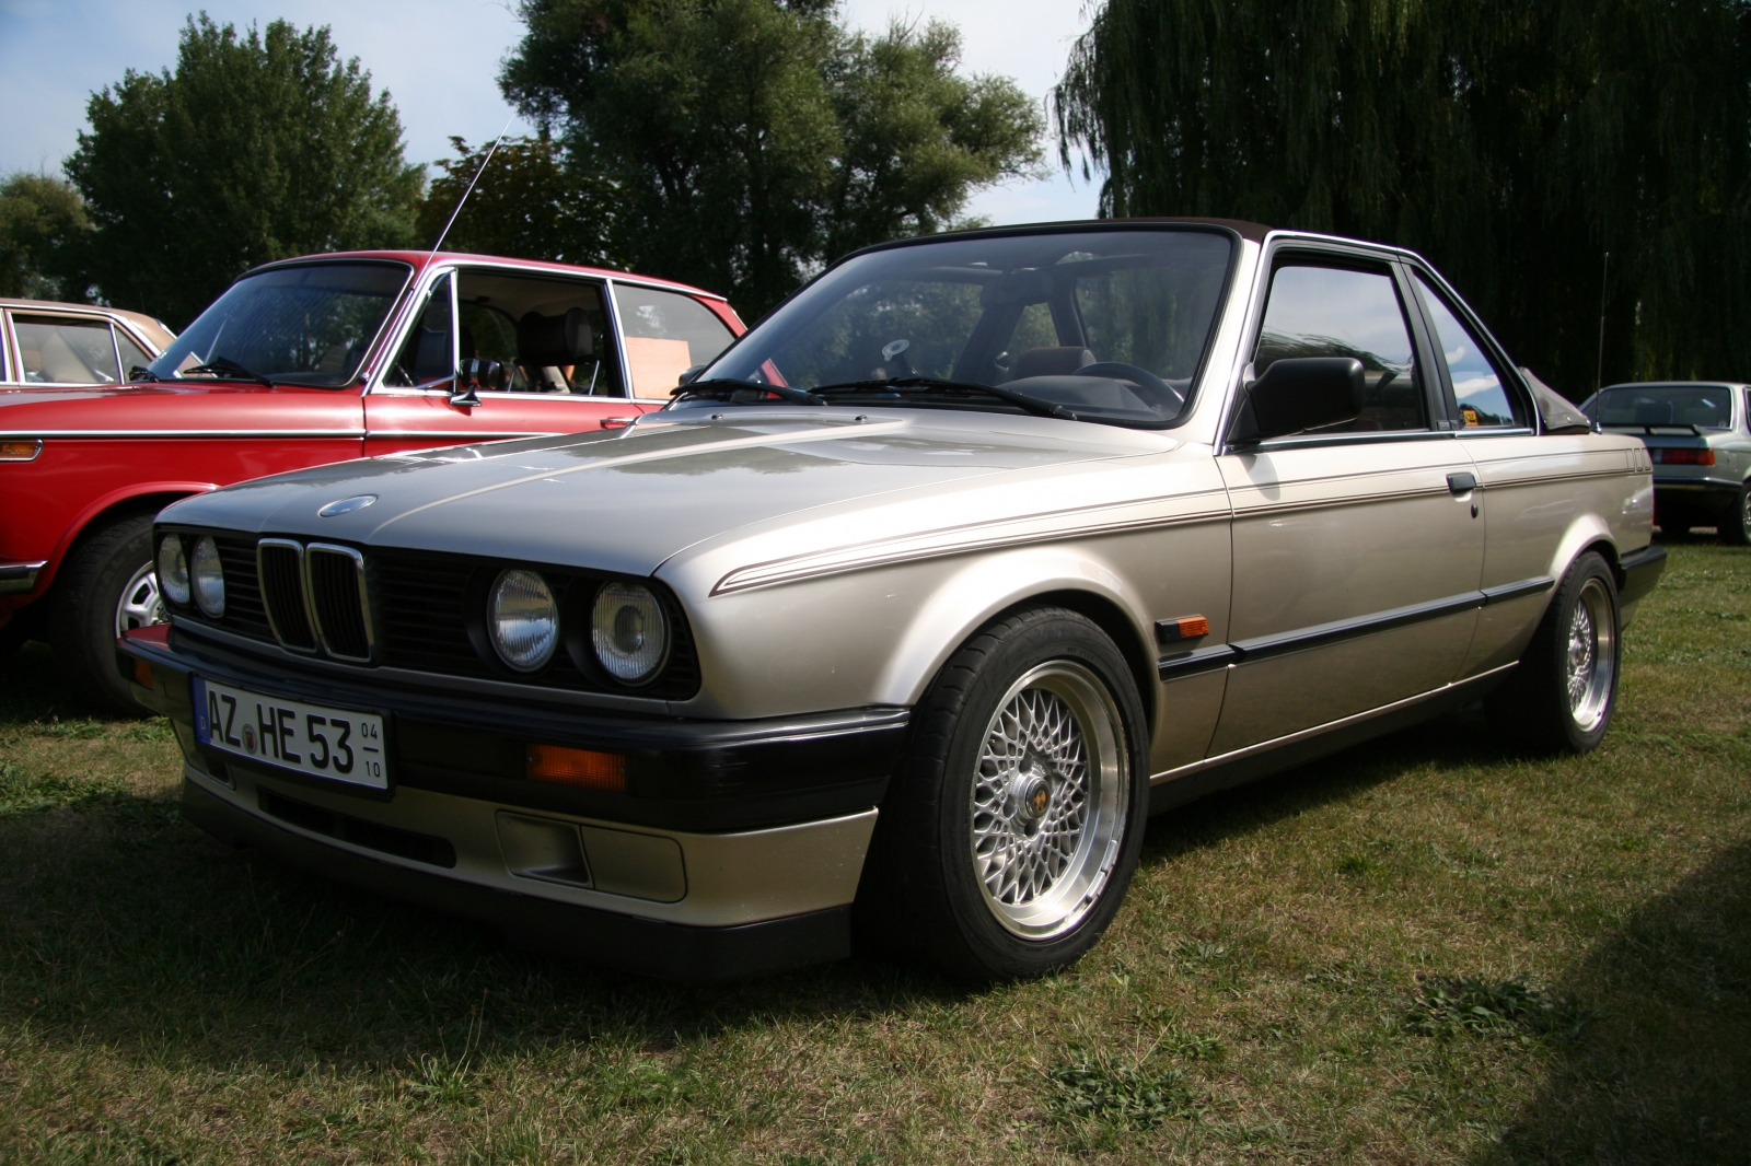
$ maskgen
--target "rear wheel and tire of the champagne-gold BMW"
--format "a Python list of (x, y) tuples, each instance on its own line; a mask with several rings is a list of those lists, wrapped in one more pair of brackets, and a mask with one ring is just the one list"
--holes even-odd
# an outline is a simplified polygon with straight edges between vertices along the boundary
[(1597, 551), (1562, 576), (1508, 683), (1490, 693), (1490, 725), (1536, 755), (1588, 753), (1618, 704), (1618, 585)]

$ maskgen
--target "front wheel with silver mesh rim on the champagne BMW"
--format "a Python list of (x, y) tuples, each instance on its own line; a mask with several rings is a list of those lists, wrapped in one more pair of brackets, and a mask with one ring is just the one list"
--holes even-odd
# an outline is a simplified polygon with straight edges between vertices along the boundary
[(1119, 910), (1147, 816), (1149, 737), (1119, 648), (1063, 608), (1002, 616), (912, 713), (858, 947), (981, 984), (1063, 968)]

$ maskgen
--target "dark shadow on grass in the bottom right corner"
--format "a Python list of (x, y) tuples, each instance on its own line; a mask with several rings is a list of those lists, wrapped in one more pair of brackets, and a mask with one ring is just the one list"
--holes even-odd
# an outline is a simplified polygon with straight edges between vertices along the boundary
[(1476, 1166), (1746, 1161), (1751, 842), (1642, 903), (1558, 991), (1592, 1021)]

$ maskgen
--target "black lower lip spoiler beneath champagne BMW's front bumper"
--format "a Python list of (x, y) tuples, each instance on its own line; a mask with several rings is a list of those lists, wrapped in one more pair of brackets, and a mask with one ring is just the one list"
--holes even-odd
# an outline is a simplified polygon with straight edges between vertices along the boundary
[(513, 895), (411, 870), (298, 837), (182, 783), (182, 816), (231, 846), (249, 846), (312, 874), (466, 916), (518, 947), (664, 980), (709, 984), (772, 975), (851, 954), (851, 909), (728, 928), (683, 926)]

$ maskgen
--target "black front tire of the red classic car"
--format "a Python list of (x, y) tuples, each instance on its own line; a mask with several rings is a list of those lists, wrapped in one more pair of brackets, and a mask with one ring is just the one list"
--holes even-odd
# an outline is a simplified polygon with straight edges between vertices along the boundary
[[(116, 625), (123, 592), (138, 592), (140, 571), (151, 565), (152, 516), (135, 515), (88, 536), (54, 579), (49, 636), (56, 671), (93, 707), (112, 716), (147, 716), (116, 671)], [(158, 581), (151, 579), (152, 595), (156, 588)], [(145, 622), (130, 620), (131, 625)]]

